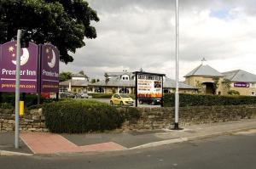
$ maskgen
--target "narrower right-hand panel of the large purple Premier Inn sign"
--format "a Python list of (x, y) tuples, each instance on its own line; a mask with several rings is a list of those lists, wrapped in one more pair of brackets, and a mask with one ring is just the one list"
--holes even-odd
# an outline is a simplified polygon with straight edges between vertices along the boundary
[(59, 92), (59, 60), (57, 48), (51, 44), (42, 45), (41, 58), (41, 92)]

